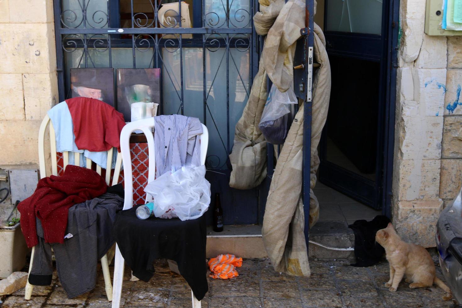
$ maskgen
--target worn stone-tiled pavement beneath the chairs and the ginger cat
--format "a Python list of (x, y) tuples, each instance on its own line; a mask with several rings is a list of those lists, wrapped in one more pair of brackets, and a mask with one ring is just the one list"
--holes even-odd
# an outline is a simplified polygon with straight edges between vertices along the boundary
[[(126, 270), (122, 294), (123, 307), (191, 307), (190, 289), (184, 279), (170, 272), (165, 261), (155, 265), (150, 282), (131, 282)], [(386, 261), (368, 268), (352, 267), (346, 260), (311, 260), (310, 278), (274, 272), (267, 259), (247, 259), (238, 268), (239, 277), (230, 280), (209, 278), (209, 292), (202, 307), (454, 307), (441, 299), (436, 287), (411, 290), (402, 282), (389, 292)], [(111, 266), (111, 271), (112, 271)], [(437, 267), (439, 273), (439, 267)], [(439, 275), (441, 278), (441, 275)], [(2, 298), (1, 308), (110, 307), (99, 272), (97, 287), (82, 296), (67, 299), (59, 279), (49, 287), (35, 287), (30, 301), (24, 289)]]

